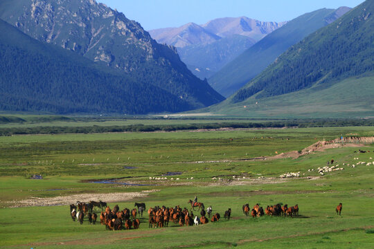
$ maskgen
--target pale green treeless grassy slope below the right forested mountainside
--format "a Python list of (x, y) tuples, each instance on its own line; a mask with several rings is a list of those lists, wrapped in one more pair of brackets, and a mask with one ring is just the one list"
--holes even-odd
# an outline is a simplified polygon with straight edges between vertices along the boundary
[(210, 111), (251, 118), (374, 117), (373, 82), (374, 74), (350, 77), (336, 84), (314, 86), (260, 100), (249, 98), (236, 104), (219, 104)]

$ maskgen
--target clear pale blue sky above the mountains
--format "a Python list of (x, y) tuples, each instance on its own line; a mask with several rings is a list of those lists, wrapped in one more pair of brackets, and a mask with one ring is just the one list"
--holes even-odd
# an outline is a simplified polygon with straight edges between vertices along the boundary
[[(138, 21), (145, 30), (204, 24), (220, 17), (289, 21), (320, 8), (355, 7), (364, 0), (96, 0)], [(372, 0), (370, 0), (372, 1)]]

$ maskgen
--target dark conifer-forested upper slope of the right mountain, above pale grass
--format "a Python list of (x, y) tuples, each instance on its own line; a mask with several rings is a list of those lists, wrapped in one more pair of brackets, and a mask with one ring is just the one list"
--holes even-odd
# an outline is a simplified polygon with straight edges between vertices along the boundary
[(336, 22), (288, 49), (238, 91), (232, 102), (282, 95), (332, 84), (374, 70), (374, 1), (365, 1)]

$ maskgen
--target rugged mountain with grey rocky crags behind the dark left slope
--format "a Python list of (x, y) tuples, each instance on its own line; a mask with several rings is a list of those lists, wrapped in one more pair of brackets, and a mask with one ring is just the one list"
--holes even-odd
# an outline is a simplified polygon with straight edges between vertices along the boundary
[(174, 48), (157, 44), (136, 21), (94, 0), (3, 0), (0, 18), (39, 41), (158, 86), (193, 108), (224, 99), (190, 73)]

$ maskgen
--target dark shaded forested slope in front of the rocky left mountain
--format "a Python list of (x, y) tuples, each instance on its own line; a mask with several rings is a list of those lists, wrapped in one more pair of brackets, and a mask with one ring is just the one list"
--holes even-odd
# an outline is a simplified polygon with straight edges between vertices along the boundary
[(190, 105), (135, 83), (69, 50), (37, 41), (0, 19), (0, 110), (48, 113), (150, 113)]

